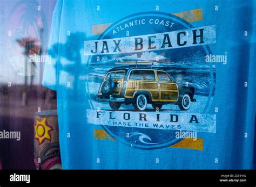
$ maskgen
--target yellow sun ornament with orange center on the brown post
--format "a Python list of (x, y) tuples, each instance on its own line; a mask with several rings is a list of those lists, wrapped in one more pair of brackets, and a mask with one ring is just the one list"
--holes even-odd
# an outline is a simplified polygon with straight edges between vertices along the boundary
[(35, 126), (35, 138), (39, 141), (39, 145), (43, 143), (45, 139), (51, 141), (51, 134), (49, 133), (52, 130), (52, 127), (46, 124), (47, 118), (42, 118), (41, 121), (36, 120)]

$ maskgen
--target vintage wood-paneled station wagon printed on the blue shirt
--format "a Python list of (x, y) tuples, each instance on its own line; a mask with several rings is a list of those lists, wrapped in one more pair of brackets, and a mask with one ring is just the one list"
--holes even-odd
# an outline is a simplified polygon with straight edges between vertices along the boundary
[(107, 71), (100, 84), (96, 100), (109, 102), (112, 110), (121, 104), (132, 104), (137, 111), (144, 111), (147, 104), (160, 110), (164, 104), (176, 104), (188, 110), (194, 98), (194, 87), (176, 83), (159, 63), (150, 61), (118, 62), (125, 64)]

